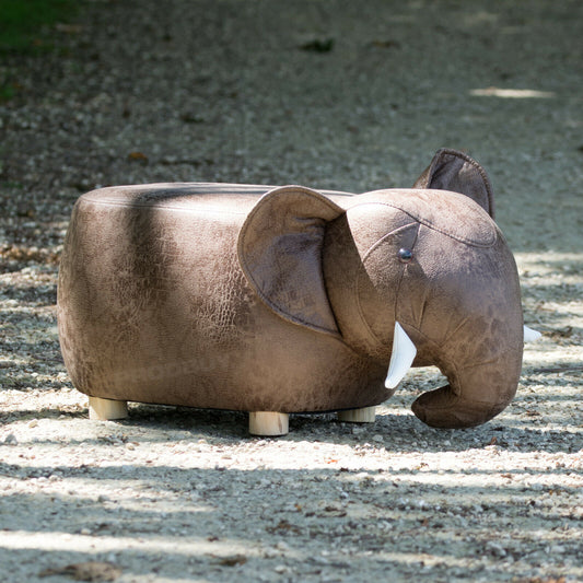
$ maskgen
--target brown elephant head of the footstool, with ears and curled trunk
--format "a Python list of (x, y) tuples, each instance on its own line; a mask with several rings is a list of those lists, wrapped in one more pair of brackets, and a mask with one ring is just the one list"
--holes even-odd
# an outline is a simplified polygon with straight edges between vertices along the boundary
[(483, 423), (516, 392), (518, 275), (486, 172), (465, 154), (440, 150), (412, 189), (276, 189), (247, 217), (238, 257), (278, 315), (375, 370), (390, 363), (385, 396), (409, 364), (438, 366), (448, 384), (412, 405), (432, 427)]

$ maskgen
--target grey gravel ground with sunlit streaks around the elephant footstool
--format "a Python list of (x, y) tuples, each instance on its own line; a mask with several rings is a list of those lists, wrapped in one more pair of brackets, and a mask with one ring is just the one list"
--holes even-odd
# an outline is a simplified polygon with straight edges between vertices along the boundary
[[(0, 61), (0, 580), (583, 581), (583, 4), (80, 4), (56, 50)], [(88, 420), (55, 308), (81, 193), (409, 186), (442, 145), (490, 172), (544, 335), (497, 419), (423, 425), (416, 370), (370, 425)]]

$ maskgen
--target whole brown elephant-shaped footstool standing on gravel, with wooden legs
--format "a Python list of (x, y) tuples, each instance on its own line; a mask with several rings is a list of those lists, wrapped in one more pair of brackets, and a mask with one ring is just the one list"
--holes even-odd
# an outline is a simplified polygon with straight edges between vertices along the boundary
[[(58, 327), (90, 417), (127, 401), (373, 421), (409, 366), (448, 385), (412, 410), (483, 423), (513, 398), (523, 313), (482, 167), (440, 150), (412, 189), (154, 184), (77, 201)], [(388, 370), (388, 374), (387, 374)]]

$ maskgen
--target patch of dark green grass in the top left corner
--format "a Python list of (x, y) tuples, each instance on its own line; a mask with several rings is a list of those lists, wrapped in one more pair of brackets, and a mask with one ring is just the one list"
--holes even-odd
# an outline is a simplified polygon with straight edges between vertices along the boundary
[(51, 27), (74, 9), (74, 0), (0, 0), (0, 54), (50, 48)]

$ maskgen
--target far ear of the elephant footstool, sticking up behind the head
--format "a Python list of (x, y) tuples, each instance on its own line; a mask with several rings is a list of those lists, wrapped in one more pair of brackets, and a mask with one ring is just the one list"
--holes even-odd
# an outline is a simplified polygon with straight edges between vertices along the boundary
[(474, 159), (456, 150), (438, 150), (431, 164), (417, 178), (413, 188), (462, 193), (494, 218), (492, 185), (486, 171)]

